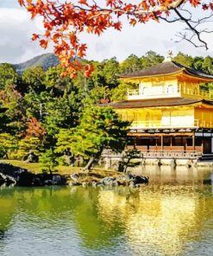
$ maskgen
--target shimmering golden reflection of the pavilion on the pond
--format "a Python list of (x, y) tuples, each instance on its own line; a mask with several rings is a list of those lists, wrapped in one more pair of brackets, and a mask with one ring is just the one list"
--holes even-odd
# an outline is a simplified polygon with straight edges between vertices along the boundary
[(143, 188), (136, 198), (103, 190), (99, 214), (105, 220), (121, 219), (129, 246), (140, 255), (179, 255), (185, 243), (196, 239), (202, 221), (212, 216), (213, 200), (206, 202), (191, 187), (178, 189)]

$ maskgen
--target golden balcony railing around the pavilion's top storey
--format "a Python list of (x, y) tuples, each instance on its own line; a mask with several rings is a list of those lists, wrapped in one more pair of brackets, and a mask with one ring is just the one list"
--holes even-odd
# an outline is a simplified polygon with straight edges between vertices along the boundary
[(172, 97), (189, 97), (196, 99), (212, 100), (213, 93), (211, 90), (199, 90), (197, 88), (191, 88), (190, 86), (179, 85), (172, 86), (172, 89), (168, 86), (162, 86), (159, 92), (156, 92), (154, 87), (148, 88), (147, 90), (140, 91), (128, 89), (128, 99), (157, 99), (157, 98), (172, 98)]

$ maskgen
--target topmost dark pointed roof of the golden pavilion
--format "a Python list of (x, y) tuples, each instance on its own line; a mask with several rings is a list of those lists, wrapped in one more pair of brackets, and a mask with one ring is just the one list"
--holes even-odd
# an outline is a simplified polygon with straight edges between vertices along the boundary
[(191, 74), (192, 76), (197, 76), (199, 78), (204, 78), (207, 80), (213, 80), (213, 75), (202, 73), (196, 69), (185, 67), (175, 61), (162, 62), (153, 67), (148, 67), (146, 69), (138, 70), (133, 73), (121, 74), (121, 78), (134, 78), (134, 77), (149, 77), (149, 76), (160, 76), (164, 74), (178, 74), (183, 72), (185, 74)]

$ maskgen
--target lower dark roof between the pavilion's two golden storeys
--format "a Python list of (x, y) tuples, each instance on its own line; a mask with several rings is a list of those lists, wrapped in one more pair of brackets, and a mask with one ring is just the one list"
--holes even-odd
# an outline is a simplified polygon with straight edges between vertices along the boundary
[(112, 106), (119, 108), (142, 108), (156, 106), (185, 106), (195, 103), (204, 103), (213, 106), (213, 103), (204, 99), (187, 99), (187, 98), (169, 98), (169, 99), (135, 99), (124, 100), (116, 103), (103, 104), (102, 106)]

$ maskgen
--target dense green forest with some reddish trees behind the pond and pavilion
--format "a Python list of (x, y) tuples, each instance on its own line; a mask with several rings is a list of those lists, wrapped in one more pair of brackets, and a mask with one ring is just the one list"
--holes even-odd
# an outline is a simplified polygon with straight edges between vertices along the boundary
[[(105, 147), (122, 150), (128, 123), (110, 107), (98, 104), (126, 98), (127, 88), (134, 85), (119, 81), (119, 74), (164, 60), (149, 51), (141, 57), (131, 54), (122, 63), (116, 58), (85, 61), (95, 68), (93, 74), (88, 79), (79, 73), (75, 80), (61, 78), (60, 66), (31, 67), (20, 73), (13, 65), (1, 64), (0, 157), (25, 160), (33, 155), (51, 169), (70, 164), (73, 155), (90, 158), (92, 163)], [(193, 58), (179, 53), (172, 60), (213, 74), (210, 56)]]

